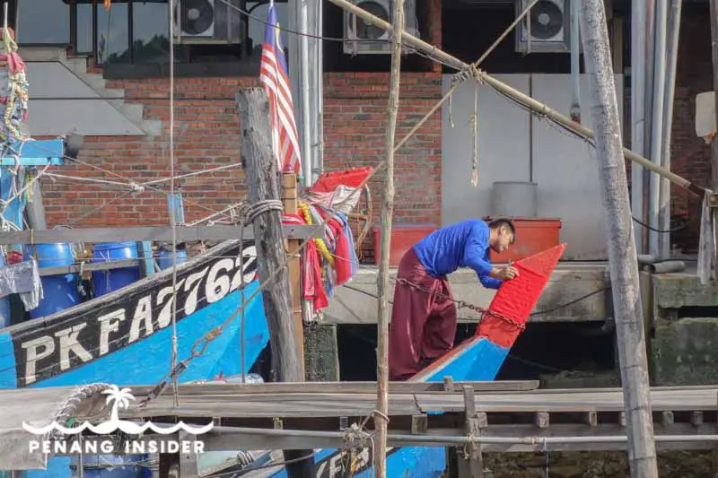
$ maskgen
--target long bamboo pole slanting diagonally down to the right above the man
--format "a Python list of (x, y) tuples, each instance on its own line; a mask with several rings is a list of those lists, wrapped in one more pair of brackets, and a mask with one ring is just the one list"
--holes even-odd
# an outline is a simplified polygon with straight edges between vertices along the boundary
[[(356, 16), (363, 19), (364, 22), (367, 22), (370, 25), (377, 26), (382, 30), (391, 30), (391, 24), (389, 22), (381, 20), (381, 18), (379, 18), (378, 16), (373, 15), (366, 10), (363, 10), (363, 8), (360, 8), (355, 4), (350, 4), (347, 0), (329, 0), (329, 2), (331, 2), (332, 4), (336, 4), (337, 6), (345, 9), (347, 12), (354, 13)], [(433, 56), (437, 60), (441, 61), (443, 64), (449, 65), (452, 68), (455, 68), (460, 71), (471, 69), (471, 65), (464, 63), (455, 56), (449, 55), (448, 53), (442, 51), (440, 48), (436, 48), (433, 45), (426, 43), (424, 40), (417, 39), (413, 35), (409, 35), (406, 31), (401, 32), (401, 41), (411, 48), (416, 48), (417, 50), (429, 56)], [(586, 140), (593, 140), (593, 132), (589, 128), (574, 122), (571, 118), (565, 117), (561, 113), (549, 108), (547, 105), (541, 103), (540, 101), (534, 100), (530, 96), (521, 93), (521, 91), (514, 90), (511, 86), (496, 80), (491, 75), (486, 74), (486, 72), (477, 70), (477, 74), (480, 81), (488, 84), (489, 86), (494, 88), (495, 91), (499, 91), (500, 93), (505, 96), (508, 96), (512, 100), (519, 102), (522, 106), (532, 109), (539, 116), (544, 116), (555, 121), (557, 124), (564, 126), (566, 129), (572, 131), (575, 135), (579, 135)], [(645, 169), (652, 170), (654, 173), (660, 175), (662, 178), (668, 179), (676, 186), (683, 187), (691, 193), (695, 194), (696, 196), (703, 197), (705, 195), (706, 189), (704, 187), (697, 186), (696, 184), (691, 183), (687, 179), (681, 178), (679, 175), (670, 172), (670, 170), (661, 168), (661, 166), (645, 159), (640, 154), (636, 154), (635, 152), (632, 152), (626, 148), (623, 149), (623, 154), (627, 160), (634, 161), (635, 163), (643, 166)]]

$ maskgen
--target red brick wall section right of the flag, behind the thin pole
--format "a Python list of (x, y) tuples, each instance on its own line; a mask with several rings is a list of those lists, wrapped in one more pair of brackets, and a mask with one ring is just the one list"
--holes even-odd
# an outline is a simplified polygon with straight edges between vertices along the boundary
[[(324, 163), (326, 169), (376, 166), (385, 157), (390, 74), (326, 74), (324, 86)], [(396, 142), (442, 96), (438, 73), (402, 74)], [(441, 109), (430, 117), (394, 157), (394, 224), (441, 223)], [(374, 219), (381, 216), (385, 175), (370, 182)], [(373, 239), (365, 242), (370, 259)]]

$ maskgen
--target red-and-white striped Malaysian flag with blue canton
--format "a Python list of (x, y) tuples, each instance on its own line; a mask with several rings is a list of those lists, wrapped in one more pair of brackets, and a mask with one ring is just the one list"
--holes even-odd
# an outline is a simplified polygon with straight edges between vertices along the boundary
[(280, 171), (298, 173), (301, 166), (299, 135), (294, 122), (292, 91), (289, 89), (285, 51), (279, 39), (279, 22), (274, 4), (269, 4), (262, 45), (259, 80), (269, 97), (272, 148)]

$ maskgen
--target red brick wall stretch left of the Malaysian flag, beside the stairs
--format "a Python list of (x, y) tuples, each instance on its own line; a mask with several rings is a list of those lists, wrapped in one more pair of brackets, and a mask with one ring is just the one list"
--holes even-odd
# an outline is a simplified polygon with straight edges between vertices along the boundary
[[(240, 88), (254, 83), (248, 78), (176, 81), (176, 174), (239, 161), (240, 130), (234, 95)], [(69, 162), (57, 172), (68, 176), (138, 183), (169, 177), (169, 82), (113, 81), (109, 82), (109, 88), (124, 88), (128, 102), (141, 102), (145, 119), (162, 120), (163, 134), (154, 137), (85, 137), (78, 159), (86, 164)], [(241, 196), (241, 168), (179, 179), (176, 186), (185, 196), (186, 219), (192, 221)], [(166, 187), (157, 185), (138, 194), (127, 194), (128, 187), (66, 179), (46, 179), (42, 189), (51, 225), (97, 227), (169, 222), (166, 196), (163, 194), (169, 191), (169, 182)]]

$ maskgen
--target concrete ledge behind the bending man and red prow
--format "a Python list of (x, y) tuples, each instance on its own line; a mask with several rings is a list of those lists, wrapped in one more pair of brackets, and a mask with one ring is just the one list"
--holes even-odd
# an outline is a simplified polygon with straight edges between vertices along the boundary
[[(396, 274), (397, 270), (392, 269), (390, 281), (392, 296)], [(329, 300), (329, 307), (325, 310), (325, 323), (376, 324), (377, 275), (376, 268), (362, 268), (347, 286), (338, 287), (334, 297)], [(469, 269), (451, 274), (449, 281), (456, 300), (465, 300), (469, 304), (486, 309), (494, 298), (495, 291), (484, 288), (478, 282), (477, 275)], [(608, 286), (606, 263), (561, 264), (552, 274), (534, 312), (556, 309), (567, 302)], [(600, 321), (612, 317), (610, 310), (610, 291), (601, 291), (572, 306), (532, 316), (530, 321)], [(459, 309), (459, 317), (460, 322), (470, 323), (477, 321), (478, 314), (470, 309)]]

